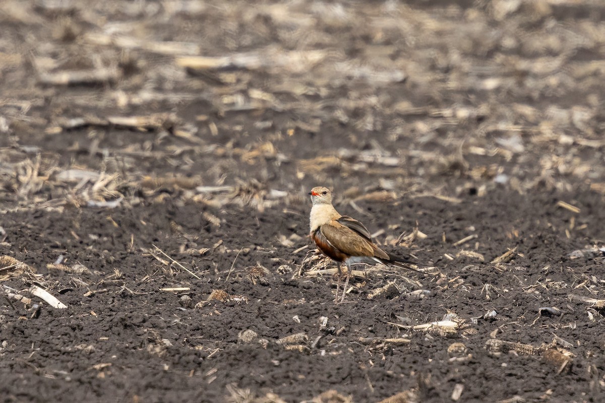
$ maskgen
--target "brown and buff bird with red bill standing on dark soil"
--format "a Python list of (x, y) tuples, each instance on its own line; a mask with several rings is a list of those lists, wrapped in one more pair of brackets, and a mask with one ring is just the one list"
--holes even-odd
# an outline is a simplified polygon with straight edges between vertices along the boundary
[(309, 195), (313, 203), (309, 218), (310, 237), (315, 242), (319, 251), (334, 260), (338, 266), (339, 280), (336, 284), (335, 302), (338, 303), (342, 263), (347, 266), (347, 279), (345, 280), (341, 302), (344, 302), (347, 294), (348, 280), (351, 277), (350, 265), (353, 263), (382, 263), (415, 271), (420, 274), (429, 274), (407, 266), (427, 265), (395, 256), (376, 246), (371, 239), (370, 231), (365, 228), (364, 224), (361, 224), (361, 222), (352, 217), (343, 216), (336, 211), (332, 205), (332, 192), (330, 192), (330, 189), (316, 186), (311, 189)]

